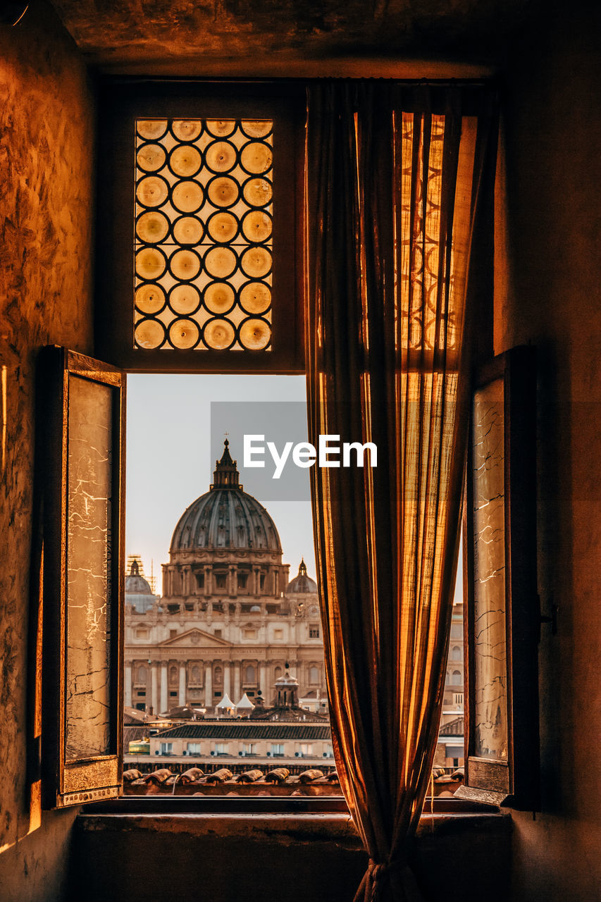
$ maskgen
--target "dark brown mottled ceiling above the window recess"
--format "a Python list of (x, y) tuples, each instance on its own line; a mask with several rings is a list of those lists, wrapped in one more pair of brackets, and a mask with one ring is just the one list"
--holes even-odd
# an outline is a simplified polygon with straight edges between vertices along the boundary
[(532, 18), (539, 0), (53, 0), (52, 5), (99, 69), (356, 75), (357, 60), (367, 59), (379, 60), (371, 74), (386, 74), (391, 60), (400, 58), (494, 62), (504, 36)]

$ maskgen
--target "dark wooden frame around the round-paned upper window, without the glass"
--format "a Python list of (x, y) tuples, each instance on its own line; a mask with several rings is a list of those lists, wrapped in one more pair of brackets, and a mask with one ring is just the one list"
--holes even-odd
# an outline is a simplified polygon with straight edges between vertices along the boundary
[[(110, 78), (100, 83), (96, 353), (130, 373), (304, 373), (304, 89), (295, 82)], [(273, 119), (272, 350), (134, 348), (134, 121)]]

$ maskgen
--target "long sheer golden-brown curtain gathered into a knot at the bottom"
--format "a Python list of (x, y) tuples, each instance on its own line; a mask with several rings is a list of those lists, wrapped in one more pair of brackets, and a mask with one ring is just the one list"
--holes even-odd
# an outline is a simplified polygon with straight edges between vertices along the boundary
[(420, 898), (408, 854), (444, 690), (495, 135), (485, 86), (308, 92), (310, 442), (377, 449), (311, 474), (333, 744), (370, 858), (357, 902)]

